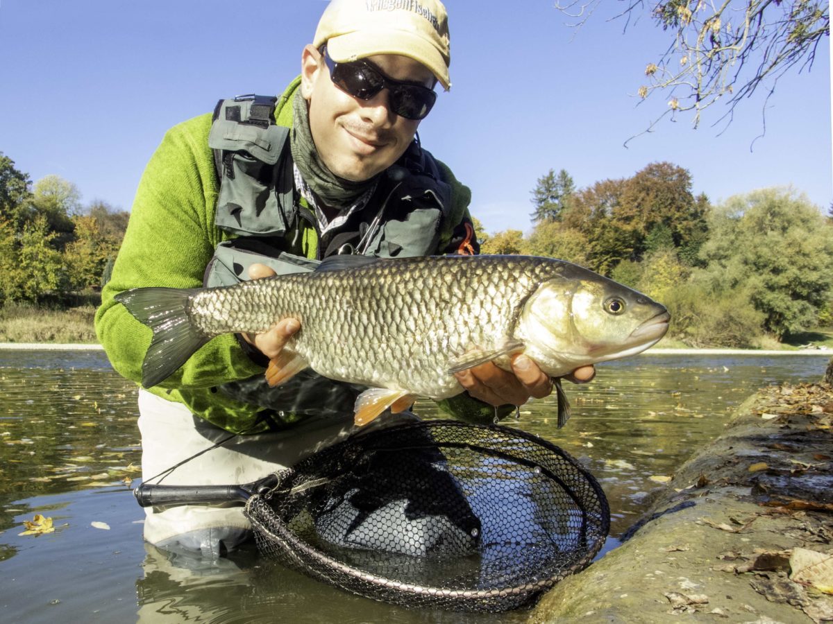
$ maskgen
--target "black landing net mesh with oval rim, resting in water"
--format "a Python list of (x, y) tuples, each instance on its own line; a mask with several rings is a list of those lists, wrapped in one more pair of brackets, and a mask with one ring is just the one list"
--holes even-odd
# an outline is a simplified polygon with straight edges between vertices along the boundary
[(349, 438), (246, 506), (267, 557), (407, 607), (500, 612), (586, 567), (610, 513), (596, 479), (528, 433), (453, 421)]

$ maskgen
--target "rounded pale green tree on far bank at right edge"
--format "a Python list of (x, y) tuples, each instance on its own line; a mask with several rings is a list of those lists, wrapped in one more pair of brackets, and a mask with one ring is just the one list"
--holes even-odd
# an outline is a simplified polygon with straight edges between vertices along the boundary
[(816, 324), (833, 290), (833, 237), (804, 196), (763, 189), (732, 197), (701, 250), (712, 290), (744, 291), (781, 339)]

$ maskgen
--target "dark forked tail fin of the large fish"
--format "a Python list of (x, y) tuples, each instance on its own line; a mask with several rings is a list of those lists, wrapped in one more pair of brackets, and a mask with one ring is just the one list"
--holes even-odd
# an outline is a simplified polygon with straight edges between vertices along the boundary
[(199, 289), (134, 288), (116, 295), (140, 323), (153, 331), (142, 362), (142, 385), (152, 388), (170, 377), (212, 337), (197, 329), (188, 316), (188, 302)]

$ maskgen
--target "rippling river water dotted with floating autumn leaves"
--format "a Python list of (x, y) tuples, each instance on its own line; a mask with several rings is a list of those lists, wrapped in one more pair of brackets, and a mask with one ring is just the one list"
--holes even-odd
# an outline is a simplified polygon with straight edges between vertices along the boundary
[[(762, 385), (821, 379), (828, 356), (643, 354), (566, 384), (511, 426), (551, 440), (596, 475), (621, 535), (676, 468)], [(436, 417), (431, 404), (417, 413)], [(326, 587), (247, 549), (202, 563), (142, 542), (136, 389), (101, 352), (0, 351), (0, 621), (523, 622), (523, 612), (407, 610)], [(135, 485), (135, 483), (133, 483)], [(54, 532), (19, 535), (35, 514)]]

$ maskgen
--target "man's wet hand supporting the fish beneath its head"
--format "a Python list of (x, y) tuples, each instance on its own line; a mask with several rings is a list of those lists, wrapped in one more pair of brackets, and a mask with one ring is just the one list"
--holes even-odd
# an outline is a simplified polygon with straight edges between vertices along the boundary
[[(552, 380), (526, 355), (512, 356), (511, 364), (511, 372), (486, 362), (454, 376), (472, 397), (494, 406), (523, 405), (531, 398), (543, 399), (551, 394)], [(595, 376), (596, 369), (592, 366), (581, 366), (564, 379), (584, 384)]]

